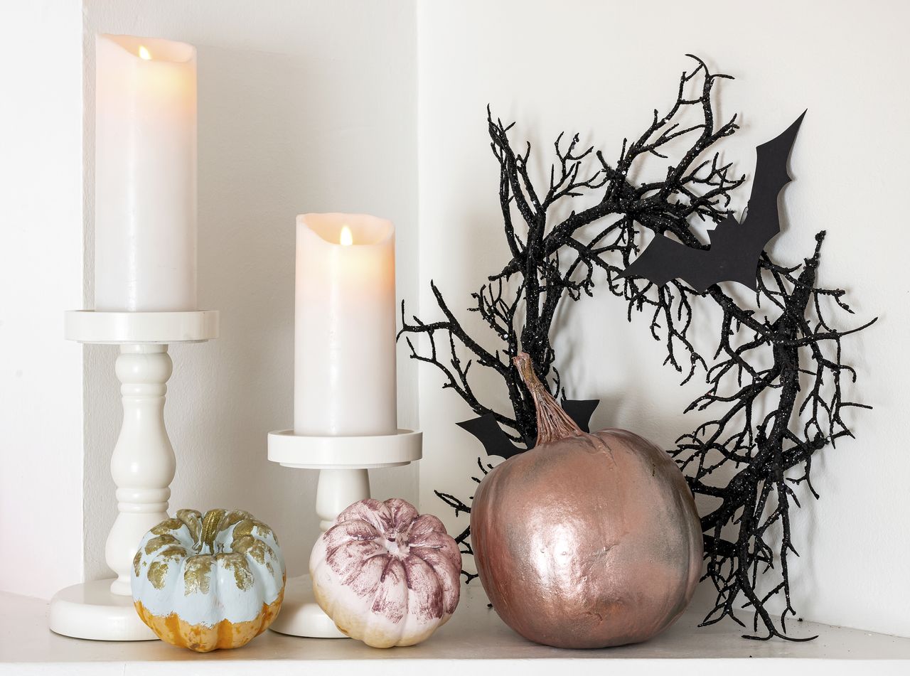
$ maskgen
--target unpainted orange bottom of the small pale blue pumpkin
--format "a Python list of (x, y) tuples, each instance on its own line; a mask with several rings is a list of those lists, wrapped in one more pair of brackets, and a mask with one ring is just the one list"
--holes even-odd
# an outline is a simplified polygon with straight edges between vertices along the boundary
[(139, 617), (156, 636), (180, 648), (191, 651), (209, 652), (219, 648), (242, 648), (249, 641), (268, 629), (268, 625), (278, 616), (281, 610), (281, 601), (284, 599), (284, 589), (278, 598), (271, 603), (263, 603), (262, 610), (252, 620), (245, 622), (232, 622), (222, 620), (212, 627), (204, 624), (189, 624), (183, 621), (176, 612), (167, 617), (153, 615), (137, 600), (134, 605)]

